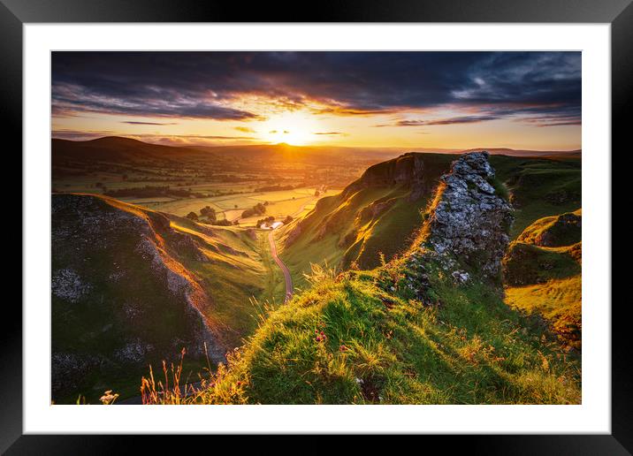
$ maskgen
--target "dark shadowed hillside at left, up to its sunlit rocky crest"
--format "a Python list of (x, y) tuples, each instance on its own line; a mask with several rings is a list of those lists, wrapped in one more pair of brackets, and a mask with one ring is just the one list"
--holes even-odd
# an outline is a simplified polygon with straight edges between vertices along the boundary
[(163, 214), (93, 195), (52, 196), (52, 385), (169, 358), (183, 347), (221, 361), (212, 300), (183, 261), (206, 257)]

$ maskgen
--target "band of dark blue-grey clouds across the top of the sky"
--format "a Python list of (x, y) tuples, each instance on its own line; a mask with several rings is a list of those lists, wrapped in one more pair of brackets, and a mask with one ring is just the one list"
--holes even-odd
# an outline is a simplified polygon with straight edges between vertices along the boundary
[(232, 100), (263, 95), (287, 109), (318, 102), (324, 105), (318, 112), (340, 115), (455, 106), (478, 110), (475, 117), (542, 116), (541, 125), (552, 125), (580, 121), (581, 57), (579, 52), (55, 52), (52, 83), (57, 115), (96, 111), (248, 120), (257, 116), (232, 108)]

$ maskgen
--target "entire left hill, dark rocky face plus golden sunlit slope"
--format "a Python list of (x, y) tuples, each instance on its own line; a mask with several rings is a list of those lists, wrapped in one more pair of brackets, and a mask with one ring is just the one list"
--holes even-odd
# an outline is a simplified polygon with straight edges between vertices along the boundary
[[(280, 302), (266, 239), (88, 194), (52, 196), (53, 398), (133, 385), (149, 362), (222, 361)], [(277, 295), (276, 295), (277, 293)], [(202, 364), (201, 364), (202, 363)], [(97, 396), (98, 397), (98, 396)]]

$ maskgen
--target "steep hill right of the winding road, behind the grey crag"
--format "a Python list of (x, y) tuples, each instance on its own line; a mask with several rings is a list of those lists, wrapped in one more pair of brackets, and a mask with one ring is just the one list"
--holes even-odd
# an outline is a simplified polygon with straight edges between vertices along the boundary
[(340, 194), (318, 201), (280, 238), (282, 258), (302, 283), (310, 262), (371, 269), (413, 240), (434, 186), (454, 156), (405, 154), (371, 166)]

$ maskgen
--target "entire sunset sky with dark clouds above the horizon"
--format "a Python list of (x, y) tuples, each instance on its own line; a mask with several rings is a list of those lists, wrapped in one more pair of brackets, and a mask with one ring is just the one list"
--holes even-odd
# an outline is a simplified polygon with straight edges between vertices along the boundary
[(581, 148), (580, 52), (53, 52), (54, 138)]

